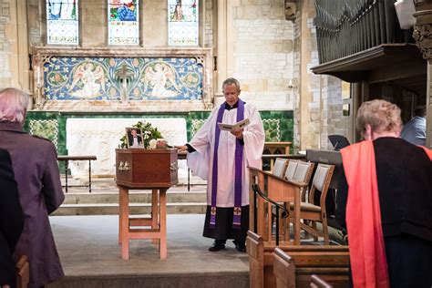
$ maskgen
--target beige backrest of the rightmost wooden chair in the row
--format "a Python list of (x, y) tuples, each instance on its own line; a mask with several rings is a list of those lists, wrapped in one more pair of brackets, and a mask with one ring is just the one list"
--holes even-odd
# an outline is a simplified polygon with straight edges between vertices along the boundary
[(322, 163), (319, 163), (315, 170), (314, 180), (312, 180), (311, 193), (309, 193), (309, 202), (314, 203), (315, 190), (321, 191), (321, 209), (325, 208), (325, 197), (327, 196), (327, 190), (329, 188), (330, 181), (332, 180), (333, 172), (334, 165), (326, 165)]

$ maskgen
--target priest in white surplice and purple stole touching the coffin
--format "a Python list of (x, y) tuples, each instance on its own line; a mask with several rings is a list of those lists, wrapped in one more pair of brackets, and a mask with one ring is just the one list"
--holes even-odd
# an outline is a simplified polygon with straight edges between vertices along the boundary
[[(239, 98), (237, 79), (223, 81), (225, 102), (211, 111), (193, 139), (180, 150), (188, 151), (192, 175), (207, 182), (207, 212), (203, 236), (214, 239), (209, 251), (225, 249), (233, 239), (246, 252), (249, 229), (249, 167), (262, 168), (264, 129), (257, 108)], [(235, 124), (248, 119), (242, 129), (221, 130), (218, 123)]]

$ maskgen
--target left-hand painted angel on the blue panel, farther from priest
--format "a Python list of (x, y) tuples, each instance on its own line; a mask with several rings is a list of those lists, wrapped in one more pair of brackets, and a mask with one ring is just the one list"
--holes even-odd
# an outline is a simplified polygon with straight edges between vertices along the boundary
[(82, 88), (71, 93), (77, 98), (98, 98), (100, 96), (100, 88), (105, 92), (105, 73), (102, 67), (93, 63), (87, 62), (77, 67), (73, 76), (73, 82), (69, 91), (82, 83)]

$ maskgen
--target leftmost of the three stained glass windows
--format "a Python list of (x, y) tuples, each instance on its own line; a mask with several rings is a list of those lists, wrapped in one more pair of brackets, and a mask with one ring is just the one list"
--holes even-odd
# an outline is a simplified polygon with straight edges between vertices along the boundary
[(78, 0), (46, 0), (48, 44), (78, 44)]

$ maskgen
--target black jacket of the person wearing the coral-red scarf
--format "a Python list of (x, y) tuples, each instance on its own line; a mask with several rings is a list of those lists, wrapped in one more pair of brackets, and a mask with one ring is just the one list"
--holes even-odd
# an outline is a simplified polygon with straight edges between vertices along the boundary
[[(374, 141), (384, 237), (407, 233), (432, 242), (432, 162), (426, 152), (399, 138)], [(342, 170), (336, 221), (345, 225), (348, 184)]]

